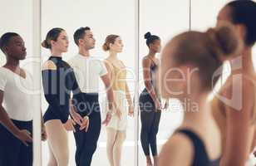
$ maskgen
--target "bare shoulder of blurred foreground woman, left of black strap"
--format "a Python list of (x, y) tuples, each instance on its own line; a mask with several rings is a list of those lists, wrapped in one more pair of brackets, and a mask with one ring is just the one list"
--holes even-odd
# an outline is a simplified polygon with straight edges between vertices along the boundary
[(194, 156), (193, 144), (185, 134), (174, 134), (160, 152), (160, 166), (189, 166)]

